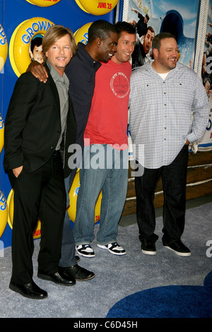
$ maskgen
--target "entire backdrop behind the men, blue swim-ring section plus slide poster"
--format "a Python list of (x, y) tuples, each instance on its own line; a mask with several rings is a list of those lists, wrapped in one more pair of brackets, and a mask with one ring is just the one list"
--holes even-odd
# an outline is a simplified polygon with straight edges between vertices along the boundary
[[(172, 32), (177, 36), (180, 59), (194, 69), (208, 93), (211, 105), (208, 114), (206, 134), (199, 141), (196, 150), (212, 149), (212, 1), (211, 0), (0, 0), (0, 250), (11, 246), (13, 228), (13, 189), (4, 172), (4, 119), (8, 102), (18, 76), (25, 72), (33, 58), (30, 52), (32, 40), (42, 37), (54, 24), (71, 28), (76, 42), (86, 44), (88, 28), (94, 20), (113, 22), (126, 20), (132, 24), (148, 14), (148, 26), (155, 34)], [(141, 36), (141, 42), (144, 40)], [(151, 49), (150, 49), (151, 52)], [(130, 131), (129, 131), (130, 143)], [(196, 148), (197, 147), (197, 148)], [(70, 191), (72, 207), (70, 219), (74, 221), (76, 199), (79, 188), (78, 172)], [(100, 218), (98, 198), (95, 220)], [(40, 237), (40, 220), (34, 238)]]

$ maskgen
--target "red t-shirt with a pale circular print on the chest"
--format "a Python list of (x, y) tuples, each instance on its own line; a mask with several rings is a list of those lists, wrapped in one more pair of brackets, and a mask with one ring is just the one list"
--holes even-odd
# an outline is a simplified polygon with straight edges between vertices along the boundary
[[(95, 74), (95, 90), (84, 133), (85, 146), (110, 144), (128, 147), (127, 124), (131, 64), (110, 60)], [(87, 139), (89, 140), (87, 141)], [(115, 146), (116, 145), (116, 146)], [(123, 146), (126, 145), (126, 146)]]

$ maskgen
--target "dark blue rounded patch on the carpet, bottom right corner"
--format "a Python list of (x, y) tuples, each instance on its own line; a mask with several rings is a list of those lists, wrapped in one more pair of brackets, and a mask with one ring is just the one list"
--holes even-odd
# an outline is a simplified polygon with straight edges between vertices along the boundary
[(204, 286), (155, 287), (129, 295), (107, 318), (212, 318), (212, 271)]

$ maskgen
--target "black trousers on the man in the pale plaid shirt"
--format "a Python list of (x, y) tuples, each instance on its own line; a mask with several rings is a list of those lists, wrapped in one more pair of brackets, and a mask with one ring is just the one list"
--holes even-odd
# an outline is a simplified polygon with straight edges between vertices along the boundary
[(161, 175), (163, 181), (163, 241), (180, 239), (184, 231), (188, 146), (184, 146), (175, 160), (159, 169), (144, 168), (142, 177), (135, 177), (136, 217), (139, 239), (155, 236), (155, 186)]

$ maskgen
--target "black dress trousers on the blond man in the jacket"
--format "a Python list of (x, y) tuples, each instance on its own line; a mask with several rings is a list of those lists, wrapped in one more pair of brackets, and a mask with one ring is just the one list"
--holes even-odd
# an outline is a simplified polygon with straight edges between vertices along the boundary
[(41, 221), (38, 271), (48, 274), (58, 271), (61, 239), (66, 211), (66, 193), (61, 156), (52, 158), (35, 172), (23, 169), (18, 178), (8, 172), (14, 189), (11, 281), (20, 285), (33, 279), (33, 232)]

